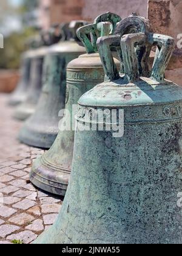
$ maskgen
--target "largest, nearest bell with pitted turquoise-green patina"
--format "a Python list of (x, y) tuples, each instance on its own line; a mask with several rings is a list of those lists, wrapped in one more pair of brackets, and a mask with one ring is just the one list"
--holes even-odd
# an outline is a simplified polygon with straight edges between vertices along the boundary
[[(102, 59), (113, 63), (104, 45), (100, 38)], [(144, 77), (153, 45), (159, 51)], [(79, 99), (66, 197), (55, 224), (35, 243), (182, 243), (182, 88), (164, 80), (174, 40), (128, 34), (121, 48), (125, 76), (112, 64), (112, 79)]]

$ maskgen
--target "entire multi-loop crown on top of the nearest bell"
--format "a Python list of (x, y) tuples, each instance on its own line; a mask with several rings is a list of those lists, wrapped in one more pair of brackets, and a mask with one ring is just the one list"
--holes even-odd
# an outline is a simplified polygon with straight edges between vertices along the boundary
[[(115, 46), (121, 61), (121, 73), (125, 74), (129, 82), (139, 80), (140, 77), (150, 77), (162, 82), (175, 42), (166, 35), (153, 34), (149, 20), (129, 16), (118, 23), (115, 35), (98, 38), (97, 46), (107, 81), (120, 78), (110, 50)], [(150, 70), (152, 46), (157, 46), (157, 52)]]

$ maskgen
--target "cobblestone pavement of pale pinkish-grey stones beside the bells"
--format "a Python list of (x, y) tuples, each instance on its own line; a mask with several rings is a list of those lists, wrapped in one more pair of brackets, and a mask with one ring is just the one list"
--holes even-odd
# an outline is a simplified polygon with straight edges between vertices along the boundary
[(12, 118), (7, 100), (0, 94), (0, 244), (29, 244), (55, 221), (62, 198), (29, 183), (33, 159), (44, 151), (16, 140), (22, 123)]

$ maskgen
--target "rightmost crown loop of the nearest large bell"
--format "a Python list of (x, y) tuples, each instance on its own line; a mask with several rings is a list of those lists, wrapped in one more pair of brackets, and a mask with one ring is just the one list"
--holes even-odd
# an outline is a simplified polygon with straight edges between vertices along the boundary
[(167, 65), (175, 48), (175, 40), (167, 35), (153, 34), (153, 45), (157, 46), (155, 60), (152, 67), (152, 78), (163, 81)]

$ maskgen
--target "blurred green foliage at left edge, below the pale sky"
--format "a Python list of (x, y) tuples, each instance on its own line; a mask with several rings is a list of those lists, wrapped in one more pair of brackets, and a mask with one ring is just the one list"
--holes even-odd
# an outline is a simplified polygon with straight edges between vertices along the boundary
[(25, 41), (35, 33), (34, 29), (27, 28), (4, 38), (4, 49), (0, 49), (0, 69), (19, 68), (21, 54), (25, 51)]

